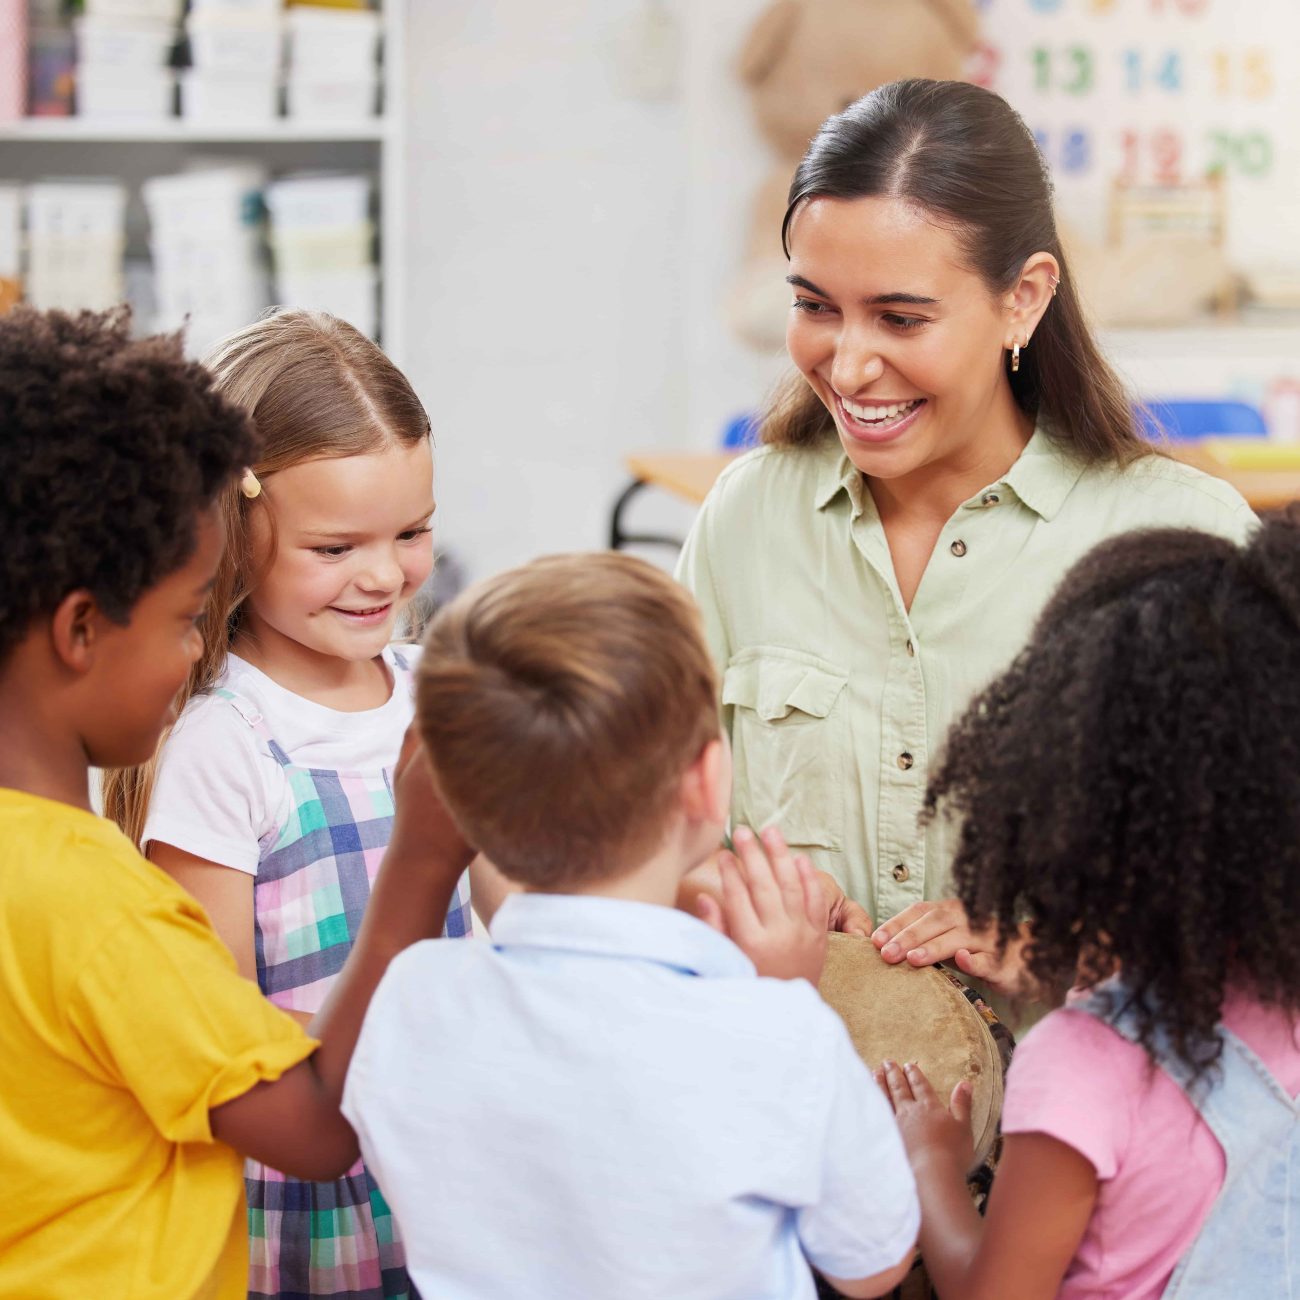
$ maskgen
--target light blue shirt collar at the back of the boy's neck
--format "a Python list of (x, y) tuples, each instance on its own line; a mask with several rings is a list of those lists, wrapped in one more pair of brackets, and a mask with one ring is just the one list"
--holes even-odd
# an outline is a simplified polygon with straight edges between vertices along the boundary
[(702, 920), (656, 904), (590, 894), (511, 894), (488, 927), (498, 948), (549, 948), (656, 962), (689, 975), (754, 975), (754, 963)]

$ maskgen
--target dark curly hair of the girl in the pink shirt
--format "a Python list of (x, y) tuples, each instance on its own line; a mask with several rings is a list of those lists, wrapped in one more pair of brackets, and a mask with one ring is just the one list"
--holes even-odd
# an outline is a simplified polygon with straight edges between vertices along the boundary
[(1161, 529), (1067, 575), (949, 736), (927, 796), (961, 818), (976, 922), (1032, 923), (1030, 966), (1118, 961), (1193, 1066), (1230, 984), (1300, 1010), (1300, 514), (1244, 547)]

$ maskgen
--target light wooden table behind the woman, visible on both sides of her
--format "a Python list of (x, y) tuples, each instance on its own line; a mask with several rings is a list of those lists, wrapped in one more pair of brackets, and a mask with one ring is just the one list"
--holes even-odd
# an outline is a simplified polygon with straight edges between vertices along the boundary
[[(1256, 511), (1277, 510), (1300, 500), (1300, 469), (1239, 469), (1212, 456), (1196, 443), (1174, 445), (1171, 452), (1190, 465), (1230, 482)], [(629, 545), (680, 546), (681, 538), (659, 533), (628, 533), (623, 511), (646, 488), (662, 488), (698, 506), (718, 476), (736, 459), (734, 451), (645, 451), (627, 458), (632, 482), (619, 497), (610, 520), (610, 547)]]

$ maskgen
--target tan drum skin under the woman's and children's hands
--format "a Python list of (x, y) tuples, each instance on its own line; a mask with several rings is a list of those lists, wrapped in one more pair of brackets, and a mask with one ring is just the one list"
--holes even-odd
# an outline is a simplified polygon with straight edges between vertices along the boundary
[(1002, 1114), (1002, 1060), (983, 1017), (931, 966), (890, 966), (868, 939), (829, 935), (822, 997), (838, 1011), (858, 1056), (915, 1061), (946, 1105), (962, 1079), (972, 1086), (975, 1165), (993, 1148)]

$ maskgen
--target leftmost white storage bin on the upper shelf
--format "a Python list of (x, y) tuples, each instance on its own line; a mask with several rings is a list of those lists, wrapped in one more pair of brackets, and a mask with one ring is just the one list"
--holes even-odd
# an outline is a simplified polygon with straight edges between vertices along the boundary
[(74, 23), (78, 116), (170, 117), (179, 17), (181, 0), (86, 0)]

